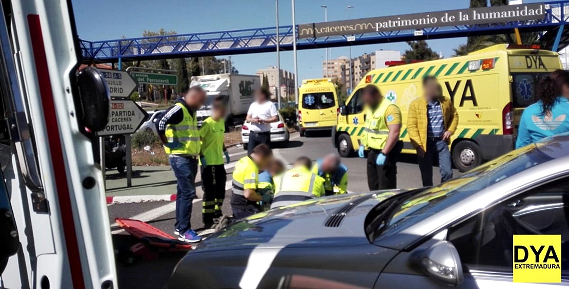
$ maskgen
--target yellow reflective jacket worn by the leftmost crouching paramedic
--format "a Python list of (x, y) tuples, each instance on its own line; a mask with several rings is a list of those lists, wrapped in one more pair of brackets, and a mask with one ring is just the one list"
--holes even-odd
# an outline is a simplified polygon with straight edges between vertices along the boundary
[(256, 204), (245, 198), (245, 190), (257, 190), (259, 182), (259, 169), (257, 164), (250, 156), (242, 157), (235, 164), (233, 170), (233, 194), (231, 196), (231, 204), (236, 206), (244, 206), (247, 204)]

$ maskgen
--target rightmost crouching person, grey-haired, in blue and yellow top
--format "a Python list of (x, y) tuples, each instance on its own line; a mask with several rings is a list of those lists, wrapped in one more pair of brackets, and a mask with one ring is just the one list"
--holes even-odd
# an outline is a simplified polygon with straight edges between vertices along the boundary
[(324, 179), (324, 191), (327, 196), (348, 192), (348, 167), (340, 161), (340, 156), (331, 153), (316, 161), (312, 173)]

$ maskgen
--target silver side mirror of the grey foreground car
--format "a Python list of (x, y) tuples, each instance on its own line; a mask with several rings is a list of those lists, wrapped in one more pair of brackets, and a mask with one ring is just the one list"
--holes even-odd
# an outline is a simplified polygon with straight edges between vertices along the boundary
[(420, 254), (419, 265), (433, 279), (451, 286), (459, 286), (463, 280), (463, 269), (459, 252), (448, 241), (439, 241)]

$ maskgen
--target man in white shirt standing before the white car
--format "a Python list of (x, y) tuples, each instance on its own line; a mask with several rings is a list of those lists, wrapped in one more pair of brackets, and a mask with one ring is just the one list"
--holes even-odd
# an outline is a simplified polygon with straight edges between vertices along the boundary
[(253, 95), (255, 101), (251, 103), (247, 112), (249, 127), (248, 153), (251, 154), (255, 146), (266, 144), (271, 146), (271, 123), (278, 122), (278, 112), (275, 104), (271, 102), (271, 93), (259, 87)]

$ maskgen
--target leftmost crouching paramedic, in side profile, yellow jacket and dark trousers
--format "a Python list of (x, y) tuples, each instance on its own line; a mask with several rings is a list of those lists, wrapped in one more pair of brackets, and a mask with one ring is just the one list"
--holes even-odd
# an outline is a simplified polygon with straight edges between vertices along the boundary
[(233, 171), (233, 194), (231, 210), (236, 220), (254, 215), (261, 211), (257, 202), (269, 203), (271, 195), (258, 194), (259, 169), (265, 167), (273, 159), (273, 151), (266, 144), (255, 146), (249, 156), (241, 158)]

